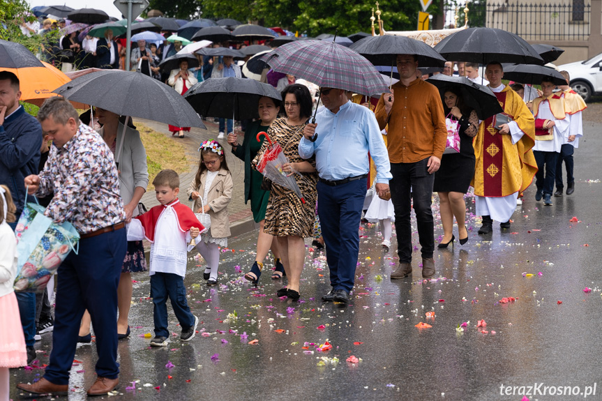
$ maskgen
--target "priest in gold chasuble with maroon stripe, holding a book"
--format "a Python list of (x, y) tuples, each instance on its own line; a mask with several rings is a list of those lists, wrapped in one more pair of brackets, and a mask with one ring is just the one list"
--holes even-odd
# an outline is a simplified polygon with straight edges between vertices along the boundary
[(471, 185), (476, 214), (483, 216), (479, 234), (489, 234), (493, 220), (499, 221), (502, 229), (510, 228), (518, 192), (529, 186), (537, 171), (531, 150), (535, 142), (533, 114), (510, 86), (502, 84), (502, 64), (488, 63), (485, 76), (509, 120), (496, 123), (496, 116), (491, 116), (479, 125), (474, 137), (476, 165)]

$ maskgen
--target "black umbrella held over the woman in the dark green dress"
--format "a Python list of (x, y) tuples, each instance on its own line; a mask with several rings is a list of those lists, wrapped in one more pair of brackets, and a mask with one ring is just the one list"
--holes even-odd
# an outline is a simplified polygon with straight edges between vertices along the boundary
[(282, 102), (282, 95), (270, 84), (234, 77), (199, 82), (184, 94), (200, 115), (234, 120), (256, 119), (262, 96)]

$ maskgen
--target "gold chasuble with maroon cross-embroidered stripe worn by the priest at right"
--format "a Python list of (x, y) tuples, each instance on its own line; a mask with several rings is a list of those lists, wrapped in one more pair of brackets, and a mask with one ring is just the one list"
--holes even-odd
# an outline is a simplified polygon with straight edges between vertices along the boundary
[(476, 166), (471, 185), (474, 195), (505, 197), (525, 190), (537, 172), (537, 163), (531, 150), (535, 144), (534, 117), (518, 94), (505, 86), (494, 93), (504, 109), (525, 135), (516, 144), (512, 136), (500, 134), (494, 128), (495, 116), (481, 123), (474, 138)]

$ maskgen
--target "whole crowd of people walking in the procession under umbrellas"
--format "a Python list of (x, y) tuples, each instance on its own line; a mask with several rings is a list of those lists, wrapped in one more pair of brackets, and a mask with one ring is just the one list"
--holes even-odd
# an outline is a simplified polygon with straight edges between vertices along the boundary
[[(45, 22), (44, 29), (52, 29), (52, 24), (47, 27)], [(82, 53), (92, 54), (93, 66), (119, 68), (123, 52), (112, 31), (93, 42), (79, 43), (77, 34), (71, 33), (61, 39), (59, 52), (57, 44), (52, 44), (45, 56), (57, 60), (60, 52), (68, 50), (60, 60), (63, 70), (77, 65)], [(205, 62), (201, 57), (194, 71), (183, 59), (178, 69), (165, 76), (158, 70), (158, 61), (180, 49), (177, 42), (147, 47), (140, 40), (130, 61), (135, 70), (164, 80), (181, 94), (206, 79), (241, 77), (231, 56), (210, 57)], [(262, 80), (278, 88), (281, 98), (259, 99), (259, 119), (244, 124), (242, 143), (234, 135), (233, 121), (220, 119), (218, 139), (227, 133), (229, 150), (244, 162), (244, 200), (250, 201), (260, 227), (255, 262), (244, 275), (247, 280), (255, 284), (260, 280), (271, 250), (271, 278), (287, 280), (277, 296), (298, 300), (303, 292), (305, 240), (317, 241), (315, 232), (319, 232), (331, 283), (322, 300), (348, 303), (363, 215), (379, 222), (382, 246), (387, 250), (395, 224), (399, 264), (391, 270), (391, 279), (419, 275), (428, 280), (437, 274), (436, 248), (453, 247), (456, 240), (454, 218), (460, 245), (469, 241), (465, 204), (469, 188), (474, 188), (476, 214), (482, 217), (481, 235), (492, 232), (494, 220), (509, 229), (511, 215), (534, 178), (536, 202), (543, 199), (549, 206), (552, 196), (564, 195), (562, 162), (566, 195), (573, 193), (573, 150), (582, 136), (585, 103), (571, 91), (566, 72), (562, 72), (566, 85), (557, 86), (544, 78), (539, 82), (540, 96), (528, 104), (518, 93), (525, 86), (502, 82), (501, 63), (483, 66), (484, 80), (479, 77), (479, 64), (454, 66), (448, 61), (443, 74), (456, 71), (473, 82), (488, 84), (504, 110), (480, 121), (457, 84), (439, 91), (425, 80), (429, 75), (419, 70), (416, 56), (398, 54), (396, 61), (399, 82), (378, 99), (322, 86), (316, 102), (312, 84), (294, 75), (264, 74)], [(206, 66), (215, 67), (208, 71)], [(8, 244), (0, 251), (0, 310), (10, 327), (22, 327), (0, 337), (0, 345), (14, 345), (0, 347), (0, 387), (8, 389), (8, 367), (35, 358), (36, 336), (54, 330), (43, 378), (18, 384), (18, 388), (38, 394), (68, 391), (76, 344), (91, 342), (92, 325), (98, 378), (87, 392), (107, 394), (119, 384), (117, 342), (130, 335), (131, 273), (149, 271), (151, 277), (155, 327), (151, 346), (169, 342), (167, 298), (181, 326), (180, 340), (195, 337), (199, 319), (186, 301), (183, 278), (188, 252), (196, 249), (206, 262), (206, 284), (218, 284), (220, 248), (228, 245), (228, 204), (234, 188), (226, 145), (216, 139), (200, 144), (197, 172), (190, 183), (181, 183), (171, 169), (161, 171), (153, 179), (159, 205), (144, 211), (140, 199), (149, 173), (140, 133), (131, 119), (96, 107), (97, 125), (89, 116), (85, 121), (61, 97), (46, 100), (35, 118), (24, 111), (19, 99), (16, 75), (0, 72), (0, 242)], [(313, 112), (315, 120), (310, 119)], [(189, 129), (170, 126), (180, 137)], [(288, 160), (283, 173), (294, 177), (303, 197), (257, 172), (269, 144), (255, 140), (261, 131), (282, 146)], [(453, 150), (450, 136), (458, 137)], [(194, 213), (179, 201), (181, 185), (195, 202)], [(432, 192), (438, 194), (444, 230), (437, 247)], [(96, 196), (82, 197), (92, 193)], [(24, 205), (33, 197), (46, 199), (47, 217), (57, 223), (70, 222), (80, 234), (79, 252), (69, 254), (58, 269), (54, 319), (48, 302), (54, 287), (37, 295), (13, 291), (17, 274), (13, 231)], [(412, 209), (421, 245), (419, 274), (413, 273), (416, 264), (412, 264)], [(143, 240), (151, 243), (149, 266)], [(3, 332), (6, 327), (0, 328)]]

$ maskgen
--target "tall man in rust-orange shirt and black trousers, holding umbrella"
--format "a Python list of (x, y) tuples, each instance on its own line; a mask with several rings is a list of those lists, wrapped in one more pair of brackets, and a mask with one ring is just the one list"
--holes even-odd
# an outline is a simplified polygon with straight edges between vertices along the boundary
[[(418, 61), (398, 54), (400, 82), (383, 93), (375, 110), (379, 128), (389, 124), (387, 150), (391, 161), (391, 199), (395, 207), (399, 266), (391, 278), (412, 274), (412, 198), (422, 253), (422, 277), (435, 275), (434, 225), (430, 209), (432, 183), (445, 150), (447, 130), (439, 91), (416, 78)], [(397, 100), (396, 100), (397, 99)], [(410, 192), (411, 191), (411, 192)]]

